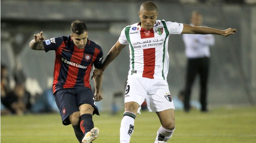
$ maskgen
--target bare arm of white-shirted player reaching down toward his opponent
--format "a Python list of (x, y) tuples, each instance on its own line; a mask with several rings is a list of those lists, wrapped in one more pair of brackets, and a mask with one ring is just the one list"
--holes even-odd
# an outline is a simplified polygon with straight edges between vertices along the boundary
[(103, 74), (103, 71), (106, 69), (109, 63), (111, 63), (122, 51), (125, 45), (122, 45), (117, 41), (115, 45), (108, 52), (106, 59), (102, 63), (101, 68), (93, 70), (92, 78), (98, 78)]

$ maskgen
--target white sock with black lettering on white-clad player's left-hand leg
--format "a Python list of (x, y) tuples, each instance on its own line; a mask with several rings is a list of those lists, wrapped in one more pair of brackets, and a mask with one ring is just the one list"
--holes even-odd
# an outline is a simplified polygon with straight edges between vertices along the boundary
[(120, 143), (129, 143), (134, 130), (136, 114), (124, 112), (120, 127)]

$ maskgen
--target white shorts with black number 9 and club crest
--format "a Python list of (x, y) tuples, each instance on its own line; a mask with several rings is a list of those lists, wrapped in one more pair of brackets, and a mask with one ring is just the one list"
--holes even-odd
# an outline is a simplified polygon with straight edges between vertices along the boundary
[[(130, 101), (136, 102), (139, 105), (146, 101), (150, 112), (175, 109), (166, 80), (129, 75), (124, 102)], [(138, 113), (140, 113), (140, 108)]]

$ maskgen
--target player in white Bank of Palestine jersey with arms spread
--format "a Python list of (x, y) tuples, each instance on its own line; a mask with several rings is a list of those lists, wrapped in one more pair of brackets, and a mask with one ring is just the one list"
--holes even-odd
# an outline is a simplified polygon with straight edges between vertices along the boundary
[[(235, 34), (236, 29), (219, 30), (196, 27), (176, 22), (157, 20), (157, 6), (144, 2), (140, 6), (140, 22), (123, 29), (120, 38), (110, 49), (100, 69), (93, 71), (92, 78), (103, 74), (108, 64), (129, 44), (130, 70), (125, 90), (125, 112), (120, 127), (120, 143), (129, 143), (136, 114), (144, 100), (150, 111), (156, 112), (161, 122), (157, 141), (168, 141), (175, 129), (174, 104), (166, 81), (168, 74), (169, 34)], [(153, 139), (152, 139), (153, 142)]]

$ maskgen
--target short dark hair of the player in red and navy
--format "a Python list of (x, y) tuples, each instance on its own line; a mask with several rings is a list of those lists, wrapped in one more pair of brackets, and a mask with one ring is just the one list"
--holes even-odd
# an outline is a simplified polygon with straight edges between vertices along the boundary
[(84, 22), (75, 20), (71, 23), (70, 30), (71, 30), (71, 33), (80, 35), (80, 34), (86, 32), (87, 28), (86, 28), (86, 24)]

